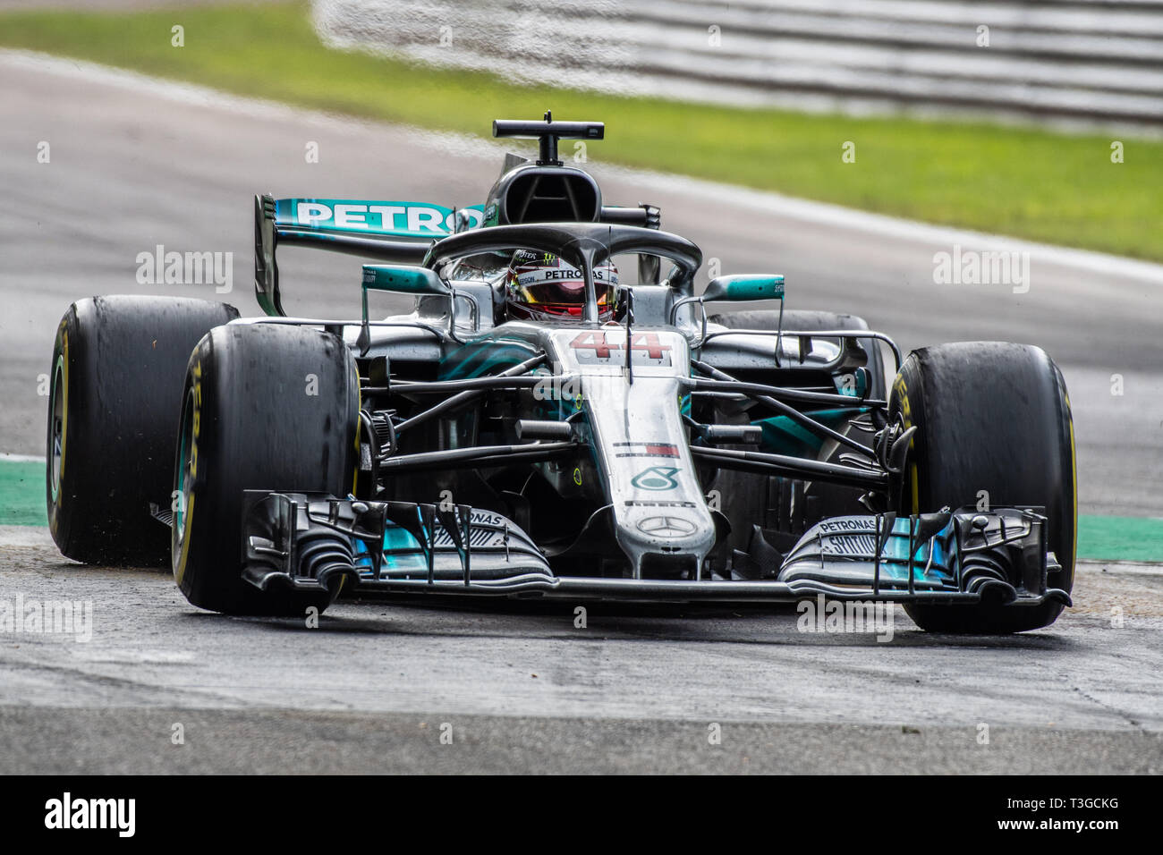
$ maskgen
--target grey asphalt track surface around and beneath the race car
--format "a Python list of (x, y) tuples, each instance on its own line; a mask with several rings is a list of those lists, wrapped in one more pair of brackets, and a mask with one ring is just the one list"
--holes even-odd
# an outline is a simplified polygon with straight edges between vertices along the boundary
[[(0, 450), (43, 453), (36, 378), (71, 300), (213, 298), (137, 285), (138, 252), (233, 251), (224, 299), (257, 313), (252, 193), (477, 201), (500, 165), (455, 137), (199, 105), (9, 57), (0, 81)], [(308, 141), (317, 164), (305, 163)], [(936, 286), (933, 252), (948, 242), (594, 169), (607, 199), (662, 205), (723, 272), (786, 273), (793, 307), (856, 312), (906, 349), (1042, 344), (1071, 389), (1080, 510), (1163, 513), (1163, 279), (1035, 258), (1027, 294)], [(357, 262), (280, 261), (301, 294), (290, 308), (357, 312)], [(568, 608), (344, 603), (308, 630), (195, 612), (166, 576), (72, 564), (36, 529), (0, 527), (0, 598), (94, 604), (87, 643), (0, 636), (0, 771), (1163, 769), (1163, 582), (1141, 568), (1087, 565), (1078, 607), (1042, 633), (928, 636), (898, 611), (894, 640), (877, 643), (799, 633), (791, 610), (592, 610), (578, 629)]]

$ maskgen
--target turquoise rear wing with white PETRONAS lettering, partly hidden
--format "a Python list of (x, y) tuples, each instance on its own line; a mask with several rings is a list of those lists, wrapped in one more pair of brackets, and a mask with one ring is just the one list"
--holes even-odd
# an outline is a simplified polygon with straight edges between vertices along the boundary
[(478, 228), (484, 206), (361, 199), (255, 197), (255, 295), (269, 315), (285, 315), (276, 251), (280, 243), (398, 264), (419, 264), (442, 237)]

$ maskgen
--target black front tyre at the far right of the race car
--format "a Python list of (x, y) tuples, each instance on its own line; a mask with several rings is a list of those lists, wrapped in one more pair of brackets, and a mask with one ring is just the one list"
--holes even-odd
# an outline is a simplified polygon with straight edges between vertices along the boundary
[[(1066, 384), (1041, 348), (1003, 342), (914, 350), (892, 387), (890, 418), (916, 433), (896, 485), (898, 512), (946, 505), (1042, 506), (1048, 544), (1062, 565), (1048, 580), (1069, 592), (1075, 576), (1077, 496)], [(984, 493), (982, 492), (984, 491)], [(1005, 634), (1049, 626), (1062, 604), (906, 605), (922, 629)]]

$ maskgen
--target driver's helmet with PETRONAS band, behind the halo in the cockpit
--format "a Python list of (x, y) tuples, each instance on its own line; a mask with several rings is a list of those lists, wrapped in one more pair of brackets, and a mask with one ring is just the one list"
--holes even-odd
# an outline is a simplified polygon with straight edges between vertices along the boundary
[[(598, 320), (614, 318), (618, 268), (606, 261), (593, 269), (598, 292)], [(511, 318), (530, 321), (580, 321), (585, 311), (582, 271), (551, 252), (520, 249), (513, 255), (505, 280)]]

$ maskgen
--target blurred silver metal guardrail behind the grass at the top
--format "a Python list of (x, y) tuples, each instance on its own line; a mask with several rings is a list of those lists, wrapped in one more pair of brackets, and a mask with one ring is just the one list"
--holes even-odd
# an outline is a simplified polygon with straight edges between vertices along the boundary
[(1163, 0), (315, 0), (333, 45), (522, 81), (1163, 126)]

